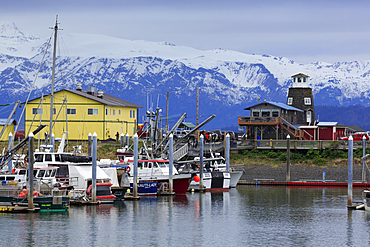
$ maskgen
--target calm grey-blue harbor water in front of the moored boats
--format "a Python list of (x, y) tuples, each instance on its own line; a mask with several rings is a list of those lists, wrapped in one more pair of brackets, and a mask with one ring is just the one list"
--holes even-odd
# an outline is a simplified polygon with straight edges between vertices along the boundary
[[(354, 201), (361, 190), (354, 190)], [(368, 246), (370, 212), (346, 188), (238, 186), (224, 193), (0, 214), (1, 246)]]

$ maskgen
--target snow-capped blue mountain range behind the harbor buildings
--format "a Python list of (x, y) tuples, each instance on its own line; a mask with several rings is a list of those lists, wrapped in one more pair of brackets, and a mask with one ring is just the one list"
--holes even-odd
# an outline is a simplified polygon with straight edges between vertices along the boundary
[[(62, 44), (58, 51), (64, 52), (57, 58), (55, 90), (75, 89), (81, 82), (84, 90), (94, 86), (144, 109), (152, 105), (165, 109), (169, 91), (170, 115), (187, 112), (187, 121), (194, 123), (197, 87), (200, 115), (216, 114), (212, 127), (231, 126), (237, 125), (238, 116), (247, 115), (243, 108), (251, 102), (286, 102), (291, 76), (297, 73), (310, 76), (316, 105), (370, 105), (369, 61), (298, 64), (284, 57), (222, 49), (200, 51), (166, 42), (58, 34)], [(0, 103), (25, 101), (30, 88), (31, 98), (50, 93), (51, 56), (50, 38), (25, 34), (14, 23), (0, 23)]]

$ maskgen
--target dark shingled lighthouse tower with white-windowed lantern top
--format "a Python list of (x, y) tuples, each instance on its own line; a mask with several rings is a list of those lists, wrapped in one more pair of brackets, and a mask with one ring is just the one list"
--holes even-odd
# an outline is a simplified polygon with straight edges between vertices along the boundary
[(297, 112), (297, 123), (313, 125), (315, 123), (315, 107), (312, 88), (308, 87), (308, 75), (299, 73), (292, 76), (293, 87), (289, 88), (287, 105), (303, 110)]

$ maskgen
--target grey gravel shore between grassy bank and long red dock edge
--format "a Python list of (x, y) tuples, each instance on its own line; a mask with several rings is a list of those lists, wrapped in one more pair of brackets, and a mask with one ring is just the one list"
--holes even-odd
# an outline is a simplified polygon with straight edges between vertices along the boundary
[[(235, 170), (243, 170), (240, 180), (253, 181), (255, 179), (273, 179), (274, 181), (286, 181), (286, 164), (281, 165), (231, 165)], [(326, 173), (326, 181), (348, 181), (348, 166), (308, 166), (290, 165), (290, 180), (322, 180), (323, 172)], [(369, 180), (369, 171), (366, 171)], [(362, 165), (353, 166), (353, 181), (361, 181)]]

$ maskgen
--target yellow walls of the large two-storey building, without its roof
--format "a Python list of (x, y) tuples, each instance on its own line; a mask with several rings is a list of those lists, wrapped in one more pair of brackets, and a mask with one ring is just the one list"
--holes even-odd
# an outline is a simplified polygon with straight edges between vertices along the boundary
[[(68, 114), (67, 117), (66, 105), (63, 104), (65, 98), (67, 98), (67, 108), (69, 109), (70, 113), (72, 113), (71, 109), (73, 109), (72, 111), (73, 113), (75, 113)], [(38, 107), (40, 101), (41, 98), (29, 101), (28, 105), (26, 106), (26, 131), (28, 131), (32, 120), (32, 131), (35, 130), (40, 124), (40, 115), (34, 115), (32, 110), (33, 108)], [(136, 108), (107, 106), (97, 101), (90, 100), (88, 98), (67, 91), (60, 91), (55, 93), (53, 102), (53, 108), (56, 109), (56, 114), (53, 117), (53, 121), (55, 121), (55, 119), (57, 118), (53, 127), (55, 138), (61, 138), (63, 135), (63, 131), (67, 130), (68, 139), (70, 140), (87, 140), (89, 133), (96, 133), (99, 140), (116, 138), (116, 132), (119, 132), (119, 134), (121, 134), (121, 130), (124, 134), (129, 133), (130, 136), (134, 134), (137, 117)], [(41, 124), (45, 124), (48, 126), (40, 132), (40, 139), (44, 139), (45, 132), (49, 132), (50, 95), (44, 97), (42, 108), (43, 114), (41, 117)], [(96, 112), (97, 110), (98, 114), (89, 115), (88, 109), (94, 109), (93, 112)], [(133, 117), (133, 111), (135, 111), (135, 117)], [(39, 135), (36, 135), (35, 138), (38, 139)]]

